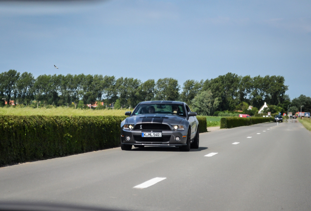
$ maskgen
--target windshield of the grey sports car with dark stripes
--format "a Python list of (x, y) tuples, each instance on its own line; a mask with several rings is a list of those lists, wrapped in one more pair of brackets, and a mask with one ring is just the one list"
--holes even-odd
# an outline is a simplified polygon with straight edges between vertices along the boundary
[(177, 104), (140, 104), (133, 111), (133, 115), (140, 114), (168, 114), (186, 116), (183, 106)]

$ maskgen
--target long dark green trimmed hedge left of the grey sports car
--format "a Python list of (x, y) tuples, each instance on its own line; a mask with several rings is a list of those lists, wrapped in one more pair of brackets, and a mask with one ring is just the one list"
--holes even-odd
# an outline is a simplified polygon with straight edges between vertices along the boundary
[(0, 116), (0, 166), (120, 144), (125, 116)]

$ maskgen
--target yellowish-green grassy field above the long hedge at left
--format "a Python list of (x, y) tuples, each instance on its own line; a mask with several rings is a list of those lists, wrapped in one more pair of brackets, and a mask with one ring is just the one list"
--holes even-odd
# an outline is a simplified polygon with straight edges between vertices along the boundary
[(74, 109), (67, 107), (57, 108), (30, 108), (30, 107), (0, 107), (0, 115), (17, 115), (17, 116), (29, 116), (29, 115), (46, 115), (46, 116), (124, 116), (126, 111), (133, 110), (120, 110), (120, 109)]

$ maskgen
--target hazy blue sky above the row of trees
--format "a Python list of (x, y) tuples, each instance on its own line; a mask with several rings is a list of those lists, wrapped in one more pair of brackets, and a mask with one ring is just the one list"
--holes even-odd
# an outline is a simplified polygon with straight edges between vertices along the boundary
[[(54, 68), (54, 64), (59, 69)], [(0, 1), (0, 72), (280, 75), (311, 96), (310, 0)]]

